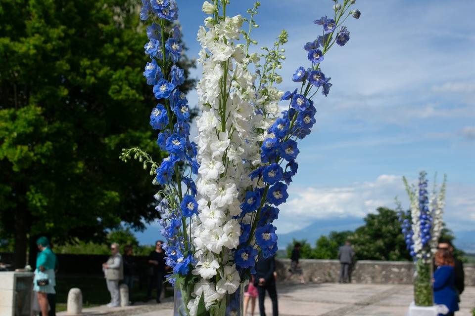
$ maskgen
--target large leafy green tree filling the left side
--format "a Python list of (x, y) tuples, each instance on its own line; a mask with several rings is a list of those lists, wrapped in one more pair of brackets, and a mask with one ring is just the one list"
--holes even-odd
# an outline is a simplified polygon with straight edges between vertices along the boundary
[(0, 234), (16, 267), (39, 235), (103, 241), (158, 217), (151, 178), (118, 159), (138, 145), (160, 161), (146, 41), (136, 0), (0, 2)]

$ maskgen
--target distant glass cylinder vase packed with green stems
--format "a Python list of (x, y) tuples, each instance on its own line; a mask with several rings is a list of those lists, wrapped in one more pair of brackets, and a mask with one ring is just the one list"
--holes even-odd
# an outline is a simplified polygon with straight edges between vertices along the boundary
[(415, 262), (414, 303), (416, 306), (433, 306), (432, 260), (419, 259)]

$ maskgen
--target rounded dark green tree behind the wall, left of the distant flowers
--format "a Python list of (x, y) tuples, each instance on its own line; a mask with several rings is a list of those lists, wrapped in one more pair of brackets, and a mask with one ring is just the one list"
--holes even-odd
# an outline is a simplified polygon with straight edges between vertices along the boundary
[(396, 211), (379, 207), (348, 239), (361, 260), (411, 260)]

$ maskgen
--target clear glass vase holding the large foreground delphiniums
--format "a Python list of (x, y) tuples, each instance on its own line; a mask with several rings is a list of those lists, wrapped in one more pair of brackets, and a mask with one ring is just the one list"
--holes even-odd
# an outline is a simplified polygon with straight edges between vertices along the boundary
[[(189, 300), (192, 299), (189, 294), (191, 290), (175, 286), (173, 316), (194, 316), (196, 312), (190, 312)], [(200, 316), (243, 316), (242, 300), (244, 297), (244, 286), (240, 285), (233, 294), (226, 294), (217, 304), (214, 304)], [(195, 301), (195, 304), (198, 302)]]

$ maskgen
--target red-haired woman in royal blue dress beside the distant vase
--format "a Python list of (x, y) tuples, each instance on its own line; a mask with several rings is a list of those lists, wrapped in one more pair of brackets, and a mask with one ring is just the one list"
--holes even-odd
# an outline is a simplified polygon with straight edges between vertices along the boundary
[(446, 316), (453, 316), (459, 310), (457, 292), (455, 291), (454, 258), (448, 250), (439, 249), (435, 253), (435, 265), (437, 269), (434, 271), (433, 279), (434, 302), (447, 306), (449, 314)]

